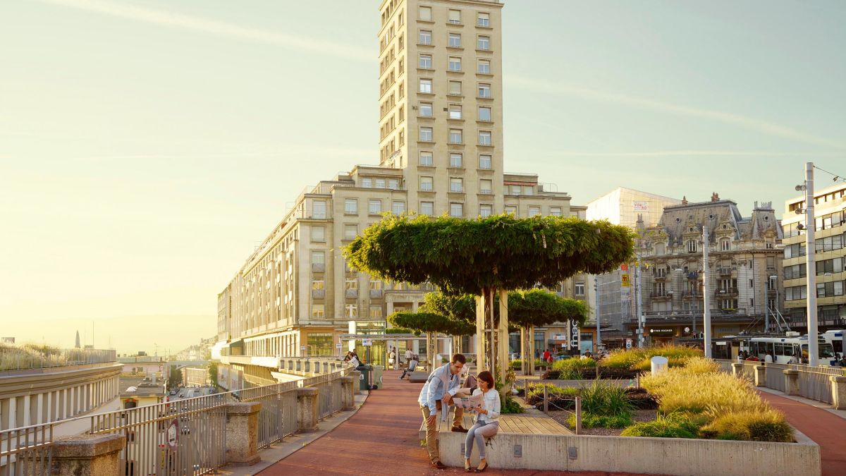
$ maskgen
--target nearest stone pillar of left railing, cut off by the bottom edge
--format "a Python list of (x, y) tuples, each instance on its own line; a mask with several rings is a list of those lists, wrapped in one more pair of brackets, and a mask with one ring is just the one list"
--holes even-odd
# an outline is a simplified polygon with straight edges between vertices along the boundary
[(75, 434), (53, 443), (50, 474), (53, 476), (107, 476), (122, 473), (122, 434)]

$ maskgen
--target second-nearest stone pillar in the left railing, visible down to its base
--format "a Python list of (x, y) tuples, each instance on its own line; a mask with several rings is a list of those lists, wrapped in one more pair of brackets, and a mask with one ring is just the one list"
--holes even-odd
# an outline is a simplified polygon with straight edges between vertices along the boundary
[(259, 410), (257, 401), (229, 403), (226, 406), (226, 462), (250, 466), (259, 457)]

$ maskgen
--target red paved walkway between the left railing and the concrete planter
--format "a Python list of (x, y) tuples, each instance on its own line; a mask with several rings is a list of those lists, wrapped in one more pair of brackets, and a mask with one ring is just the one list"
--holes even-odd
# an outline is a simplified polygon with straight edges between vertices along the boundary
[[(374, 390), (349, 420), (320, 439), (261, 472), (261, 476), (297, 474), (466, 474), (464, 468), (437, 470), (429, 465), (417, 431), (423, 417), (416, 400), (422, 384), (398, 379), (386, 371), (383, 389)], [(500, 471), (486, 474), (624, 476), (625, 473), (562, 473), (559, 471)]]

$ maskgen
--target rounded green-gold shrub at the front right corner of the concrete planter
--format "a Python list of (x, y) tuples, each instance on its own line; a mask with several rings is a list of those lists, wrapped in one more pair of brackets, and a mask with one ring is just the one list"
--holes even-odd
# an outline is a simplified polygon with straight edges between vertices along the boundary
[(703, 438), (717, 440), (782, 441), (794, 440), (794, 430), (784, 415), (772, 409), (758, 412), (729, 412), (704, 426)]

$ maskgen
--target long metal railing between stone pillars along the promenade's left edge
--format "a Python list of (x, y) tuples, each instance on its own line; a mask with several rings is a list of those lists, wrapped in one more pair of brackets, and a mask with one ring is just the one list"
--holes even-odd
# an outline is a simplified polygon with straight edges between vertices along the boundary
[(351, 367), (310, 379), (168, 401), (0, 431), (0, 476), (51, 473), (54, 429), (85, 421), (88, 434), (121, 434), (121, 468), (127, 476), (183, 476), (213, 472), (226, 461), (227, 406), (261, 403), (258, 443), (266, 448), (297, 431), (297, 389), (316, 387), (319, 418), (343, 407), (341, 377)]

